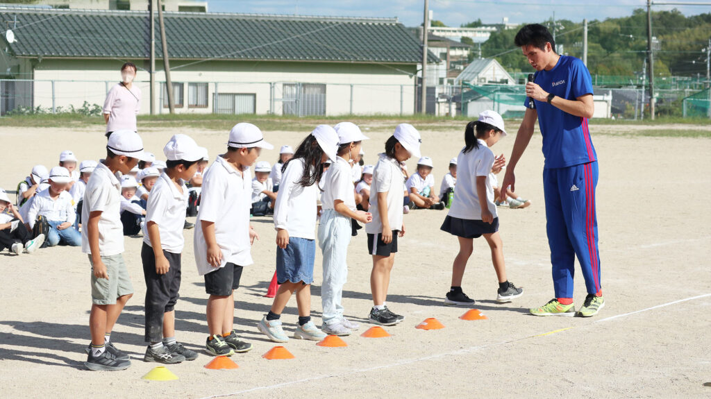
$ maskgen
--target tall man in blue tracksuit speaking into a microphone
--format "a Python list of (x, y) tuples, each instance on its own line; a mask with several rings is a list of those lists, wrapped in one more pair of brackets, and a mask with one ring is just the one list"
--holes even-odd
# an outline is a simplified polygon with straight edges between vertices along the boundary
[[(555, 53), (545, 26), (526, 25), (515, 44), (536, 70), (526, 84), (526, 106), (506, 176), (515, 182), (515, 165), (533, 136), (536, 119), (543, 136), (543, 190), (555, 298), (530, 310), (537, 316), (574, 316), (573, 275), (577, 256), (587, 297), (577, 315), (597, 315), (604, 306), (597, 248), (595, 186), (598, 165), (587, 120), (592, 117), (592, 80), (581, 60)], [(505, 193), (506, 190), (501, 190)]]

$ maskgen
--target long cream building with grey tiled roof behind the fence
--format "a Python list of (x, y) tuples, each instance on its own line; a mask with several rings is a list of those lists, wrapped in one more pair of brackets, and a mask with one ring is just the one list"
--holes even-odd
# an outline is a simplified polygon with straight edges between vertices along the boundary
[[(0, 111), (102, 105), (123, 62), (150, 109), (148, 11), (0, 7)], [(397, 18), (165, 12), (178, 113), (412, 114), (419, 40)], [(7, 34), (11, 31), (11, 35)], [(168, 112), (155, 16), (154, 113)], [(439, 62), (432, 53), (429, 62)]]

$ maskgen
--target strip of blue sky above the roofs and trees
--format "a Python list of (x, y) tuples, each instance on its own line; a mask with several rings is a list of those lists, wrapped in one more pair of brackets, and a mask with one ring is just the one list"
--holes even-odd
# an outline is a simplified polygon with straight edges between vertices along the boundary
[[(646, 0), (429, 0), (433, 19), (447, 26), (460, 26), (478, 18), (483, 23), (501, 23), (504, 17), (509, 23), (541, 22), (554, 12), (555, 18), (574, 22), (583, 18), (603, 20), (629, 16), (639, 8), (646, 9)], [(653, 5), (655, 11), (674, 8), (687, 16), (711, 12), (711, 6)], [(210, 12), (397, 17), (405, 26), (422, 24), (423, 10), (424, 0), (208, 0)]]

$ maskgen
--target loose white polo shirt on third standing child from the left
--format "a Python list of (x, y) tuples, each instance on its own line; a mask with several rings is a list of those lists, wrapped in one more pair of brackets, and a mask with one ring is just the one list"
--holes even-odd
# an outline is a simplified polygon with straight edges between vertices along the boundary
[(252, 175), (250, 168), (242, 170), (240, 174), (225, 158), (218, 156), (207, 173), (203, 174), (201, 195), (193, 237), (198, 274), (205, 275), (217, 270), (208, 263), (208, 246), (203, 236), (203, 220), (215, 223), (215, 241), (223, 254), (220, 267), (224, 267), (228, 262), (238, 266), (251, 265)]

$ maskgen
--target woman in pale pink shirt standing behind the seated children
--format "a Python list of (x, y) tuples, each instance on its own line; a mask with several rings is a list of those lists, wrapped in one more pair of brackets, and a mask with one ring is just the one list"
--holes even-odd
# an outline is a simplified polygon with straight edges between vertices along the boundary
[(121, 82), (109, 90), (104, 102), (106, 136), (117, 130), (138, 131), (136, 115), (141, 107), (141, 89), (133, 85), (136, 65), (126, 62), (121, 67)]

